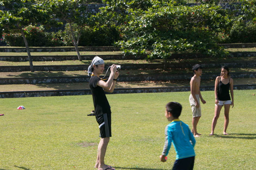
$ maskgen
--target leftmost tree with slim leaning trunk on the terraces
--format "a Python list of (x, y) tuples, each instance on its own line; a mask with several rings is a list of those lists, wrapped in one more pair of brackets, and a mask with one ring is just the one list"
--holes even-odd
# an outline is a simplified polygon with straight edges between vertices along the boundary
[(21, 33), (28, 53), (31, 72), (34, 72), (29, 45), (24, 34), (24, 28), (30, 24), (47, 23), (49, 14), (42, 8), (41, 1), (33, 0), (1, 0), (0, 28), (3, 33)]

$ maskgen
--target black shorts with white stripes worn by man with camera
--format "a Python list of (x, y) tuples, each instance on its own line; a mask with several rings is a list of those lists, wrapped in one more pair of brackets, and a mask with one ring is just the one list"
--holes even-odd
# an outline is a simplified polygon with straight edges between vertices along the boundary
[(99, 137), (111, 137), (111, 113), (103, 113), (99, 117), (96, 117), (96, 120), (100, 129)]

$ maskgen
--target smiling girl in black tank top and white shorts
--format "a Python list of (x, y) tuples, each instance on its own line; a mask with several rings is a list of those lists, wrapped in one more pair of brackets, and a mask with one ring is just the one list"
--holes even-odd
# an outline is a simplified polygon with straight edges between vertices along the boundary
[[(229, 89), (232, 101), (230, 99), (229, 95)], [(226, 130), (229, 123), (229, 109), (230, 105), (232, 105), (232, 108), (234, 107), (234, 93), (233, 93), (233, 79), (229, 76), (229, 69), (227, 66), (223, 66), (221, 68), (221, 74), (218, 76), (215, 80), (215, 111), (214, 111), (214, 118), (212, 119), (212, 131), (209, 134), (214, 135), (214, 129), (217, 124), (217, 120), (220, 116), (221, 108), (224, 105), (224, 130), (223, 134), (227, 135)]]

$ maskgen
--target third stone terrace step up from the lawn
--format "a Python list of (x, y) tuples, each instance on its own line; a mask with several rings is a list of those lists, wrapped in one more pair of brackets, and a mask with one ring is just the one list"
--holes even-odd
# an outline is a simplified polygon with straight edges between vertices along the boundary
[[(221, 68), (227, 65), (229, 68), (252, 68), (256, 67), (256, 61), (245, 62), (216, 62), (216, 63), (168, 63), (167, 68), (192, 68), (193, 65), (200, 64), (203, 68)], [(122, 70), (135, 70), (135, 69), (162, 69), (163, 63), (150, 63), (150, 64), (122, 64)], [(87, 70), (89, 65), (42, 65), (34, 66), (35, 71), (79, 71)], [(108, 69), (108, 66), (105, 66)], [(0, 66), (0, 72), (22, 72), (30, 71), (30, 66)]]

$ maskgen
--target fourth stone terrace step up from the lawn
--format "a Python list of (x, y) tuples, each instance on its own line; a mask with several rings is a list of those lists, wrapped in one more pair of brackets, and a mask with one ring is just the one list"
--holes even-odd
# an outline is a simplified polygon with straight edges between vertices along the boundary
[[(97, 55), (103, 60), (135, 60), (135, 59), (146, 59), (147, 55), (135, 56), (130, 54), (112, 54), (112, 55)], [(251, 57), (256, 56), (256, 52), (230, 52), (232, 57)], [(92, 60), (95, 55), (81, 55), (82, 60)], [(65, 61), (65, 60), (77, 60), (77, 55), (65, 55), (65, 56), (31, 56), (32, 61)], [(168, 57), (169, 59), (190, 59), (190, 58), (209, 58), (204, 54), (198, 53), (180, 53), (172, 54)], [(0, 56), (0, 61), (12, 61), (22, 62), (28, 61), (28, 56)]]

